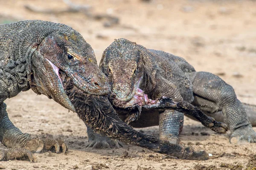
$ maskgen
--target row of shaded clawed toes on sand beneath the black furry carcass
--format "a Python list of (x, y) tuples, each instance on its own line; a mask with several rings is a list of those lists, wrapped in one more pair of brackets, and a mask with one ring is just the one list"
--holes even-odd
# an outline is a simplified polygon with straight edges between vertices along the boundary
[(118, 140), (93, 140), (89, 141), (89, 144), (87, 144), (86, 147), (92, 147), (93, 149), (111, 149), (111, 148), (117, 148), (123, 147), (123, 144)]

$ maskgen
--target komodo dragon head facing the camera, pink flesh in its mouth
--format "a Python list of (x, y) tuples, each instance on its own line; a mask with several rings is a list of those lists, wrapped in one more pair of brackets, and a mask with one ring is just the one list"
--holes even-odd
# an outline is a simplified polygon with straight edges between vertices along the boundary
[(136, 43), (120, 38), (105, 49), (100, 69), (107, 75), (111, 90), (116, 94), (116, 107), (140, 104), (140, 84), (144, 67), (140, 49)]

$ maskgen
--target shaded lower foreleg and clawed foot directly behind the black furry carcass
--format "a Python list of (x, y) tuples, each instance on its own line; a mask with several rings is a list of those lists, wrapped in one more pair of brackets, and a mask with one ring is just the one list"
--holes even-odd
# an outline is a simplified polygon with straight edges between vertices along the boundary
[(92, 148), (119, 148), (123, 147), (122, 143), (116, 139), (111, 139), (104, 134), (95, 133), (89, 126), (87, 126), (87, 135), (89, 144), (86, 147)]

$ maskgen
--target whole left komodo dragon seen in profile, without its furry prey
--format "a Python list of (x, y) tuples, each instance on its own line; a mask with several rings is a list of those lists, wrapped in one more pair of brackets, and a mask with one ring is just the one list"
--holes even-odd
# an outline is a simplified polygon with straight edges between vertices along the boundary
[(93, 49), (71, 27), (40, 20), (0, 25), (1, 159), (25, 156), (34, 161), (30, 152), (52, 147), (57, 153), (67, 151), (67, 145), (61, 139), (30, 138), (29, 134), (22, 133), (9, 120), (3, 103), (6, 98), (31, 88), (75, 112), (63, 89), (59, 69), (72, 77), (76, 86), (87, 94), (109, 93), (108, 82), (99, 71)]

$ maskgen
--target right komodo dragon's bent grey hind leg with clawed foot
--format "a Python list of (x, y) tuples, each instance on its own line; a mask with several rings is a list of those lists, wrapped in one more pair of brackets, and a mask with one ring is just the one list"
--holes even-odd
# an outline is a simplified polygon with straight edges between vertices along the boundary
[(224, 123), (231, 130), (230, 139), (235, 137), (238, 141), (256, 142), (256, 133), (232, 86), (209, 72), (195, 72), (190, 78), (195, 106), (209, 113), (222, 111)]

